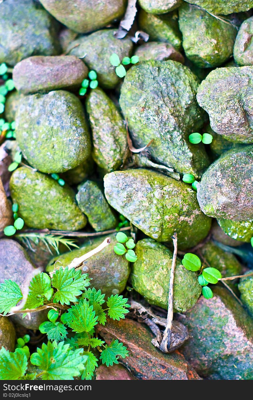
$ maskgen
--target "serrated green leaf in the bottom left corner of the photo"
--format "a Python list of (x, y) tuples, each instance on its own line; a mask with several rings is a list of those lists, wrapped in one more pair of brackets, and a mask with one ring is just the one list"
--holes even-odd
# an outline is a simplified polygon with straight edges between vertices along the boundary
[(4, 347), (0, 350), (0, 380), (17, 380), (26, 373), (27, 358), (24, 352), (11, 353)]

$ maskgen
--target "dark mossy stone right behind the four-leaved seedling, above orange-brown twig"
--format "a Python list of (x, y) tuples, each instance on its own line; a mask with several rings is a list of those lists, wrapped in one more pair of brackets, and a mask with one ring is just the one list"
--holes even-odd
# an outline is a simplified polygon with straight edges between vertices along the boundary
[[(207, 262), (204, 268), (209, 266), (211, 268), (216, 268), (223, 278), (241, 274), (241, 264), (237, 258), (232, 253), (222, 250), (211, 240), (200, 248), (200, 252), (203, 256), (203, 260)], [(231, 280), (226, 283), (229, 286), (233, 286), (234, 282), (234, 280)]]

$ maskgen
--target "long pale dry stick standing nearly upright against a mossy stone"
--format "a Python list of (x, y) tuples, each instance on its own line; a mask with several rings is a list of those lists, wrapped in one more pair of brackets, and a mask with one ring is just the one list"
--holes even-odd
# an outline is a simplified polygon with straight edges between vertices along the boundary
[(167, 353), (168, 345), (170, 347), (170, 331), (172, 327), (173, 320), (173, 283), (174, 283), (174, 275), (175, 275), (175, 266), (177, 260), (177, 233), (175, 232), (173, 236), (171, 236), (174, 246), (171, 271), (169, 276), (169, 297), (168, 297), (168, 314), (166, 321), (166, 328), (163, 332), (163, 339), (161, 341), (160, 349), (162, 352)]

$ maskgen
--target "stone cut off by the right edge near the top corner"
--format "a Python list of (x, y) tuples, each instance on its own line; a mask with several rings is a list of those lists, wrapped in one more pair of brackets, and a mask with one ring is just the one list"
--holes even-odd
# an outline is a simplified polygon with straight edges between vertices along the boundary
[(253, 17), (240, 26), (235, 40), (234, 59), (238, 65), (253, 65)]

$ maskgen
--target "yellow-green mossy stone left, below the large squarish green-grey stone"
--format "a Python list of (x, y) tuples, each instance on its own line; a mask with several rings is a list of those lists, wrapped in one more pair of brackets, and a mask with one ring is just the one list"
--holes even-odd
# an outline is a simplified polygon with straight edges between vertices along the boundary
[(87, 219), (75, 203), (74, 191), (65, 184), (27, 167), (15, 170), (10, 191), (27, 226), (38, 229), (79, 230)]

